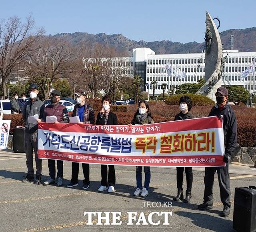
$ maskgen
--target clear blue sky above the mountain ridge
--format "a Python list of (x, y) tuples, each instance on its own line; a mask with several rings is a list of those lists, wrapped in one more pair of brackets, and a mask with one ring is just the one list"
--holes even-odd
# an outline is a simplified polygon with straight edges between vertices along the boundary
[(46, 34), (123, 34), (129, 39), (202, 42), (205, 12), (221, 20), (220, 31), (256, 26), (255, 0), (8, 0), (0, 18), (33, 14)]

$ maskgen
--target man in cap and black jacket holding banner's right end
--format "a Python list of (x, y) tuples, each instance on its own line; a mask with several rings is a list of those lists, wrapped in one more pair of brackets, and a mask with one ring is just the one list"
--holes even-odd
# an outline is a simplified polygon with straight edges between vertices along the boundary
[(226, 88), (218, 88), (215, 96), (217, 104), (212, 108), (209, 116), (218, 116), (219, 118), (222, 116), (225, 144), (225, 154), (223, 160), (226, 163), (226, 166), (205, 168), (204, 202), (203, 204), (200, 204), (198, 208), (201, 210), (213, 208), (212, 200), (214, 174), (217, 171), (220, 186), (220, 198), (222, 204), (224, 205), (222, 216), (228, 217), (230, 215), (231, 207), (230, 178), (228, 173), (228, 167), (230, 158), (236, 148), (236, 115), (234, 113), (234, 110), (232, 110), (232, 108), (228, 104), (228, 90)]

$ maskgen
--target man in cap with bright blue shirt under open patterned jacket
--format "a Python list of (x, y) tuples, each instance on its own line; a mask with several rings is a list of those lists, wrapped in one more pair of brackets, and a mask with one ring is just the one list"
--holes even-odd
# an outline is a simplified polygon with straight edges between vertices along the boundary
[[(86, 104), (85, 93), (77, 92), (76, 94), (77, 104), (74, 107), (72, 117), (79, 116), (79, 124), (94, 124), (94, 109)], [(82, 189), (89, 188), (90, 185), (90, 169), (89, 164), (82, 163), (82, 168), (84, 172), (84, 180)], [(78, 186), (78, 173), (79, 173), (79, 163), (72, 162), (72, 177), (70, 183), (67, 185), (68, 188)]]

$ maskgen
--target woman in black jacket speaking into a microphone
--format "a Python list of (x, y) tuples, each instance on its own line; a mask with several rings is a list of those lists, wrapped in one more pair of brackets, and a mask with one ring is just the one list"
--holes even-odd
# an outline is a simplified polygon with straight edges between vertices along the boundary
[[(97, 115), (97, 125), (118, 125), (116, 114), (110, 110), (111, 98), (105, 95), (102, 100), (102, 110)], [(99, 192), (108, 190), (108, 192), (114, 192), (116, 184), (116, 174), (114, 165), (101, 164), (101, 184), (98, 188)]]

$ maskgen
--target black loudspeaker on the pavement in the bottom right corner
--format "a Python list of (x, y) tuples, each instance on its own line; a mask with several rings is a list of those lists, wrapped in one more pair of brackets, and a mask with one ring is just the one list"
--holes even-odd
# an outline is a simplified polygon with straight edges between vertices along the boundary
[(239, 232), (256, 231), (256, 187), (236, 187), (233, 228)]

